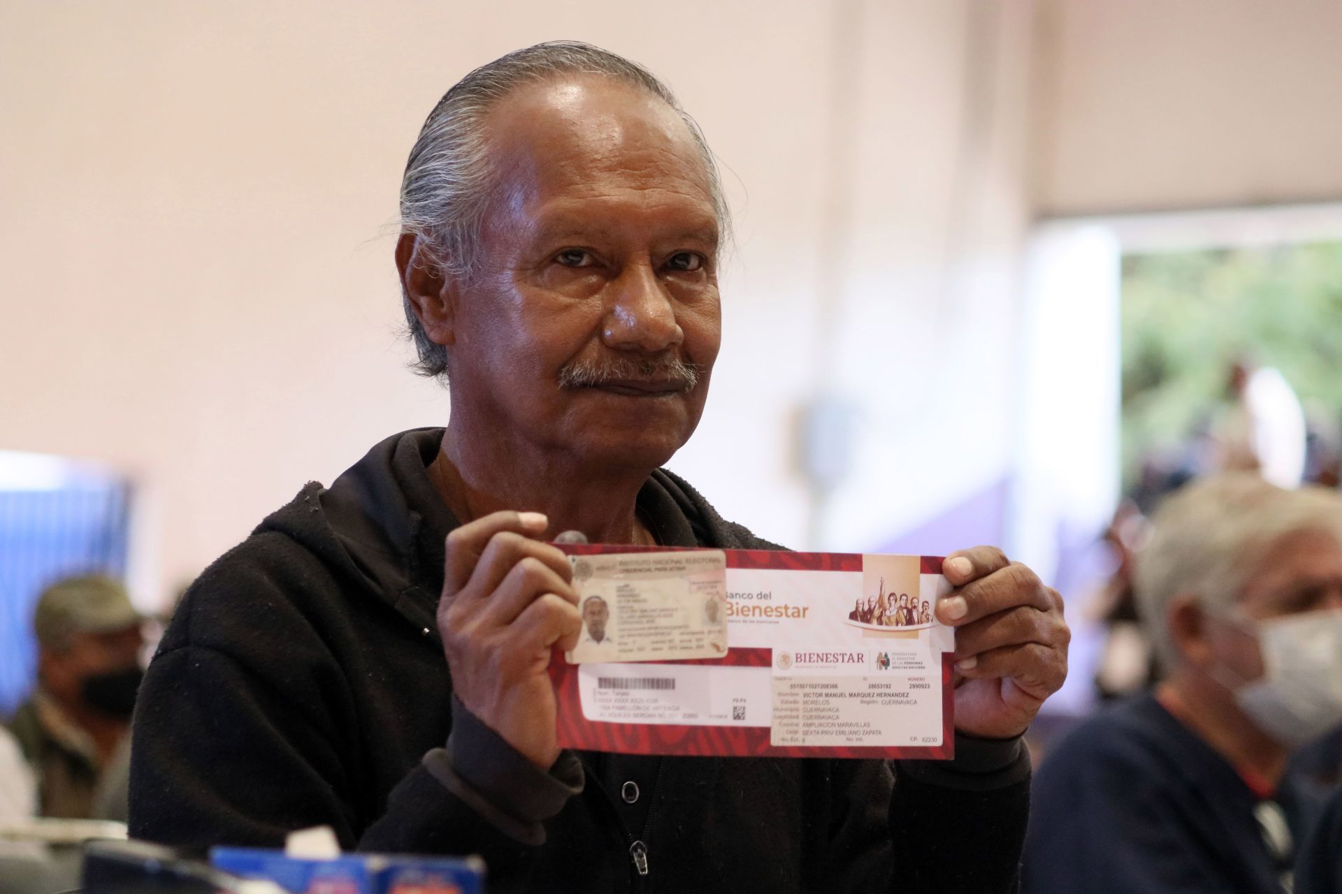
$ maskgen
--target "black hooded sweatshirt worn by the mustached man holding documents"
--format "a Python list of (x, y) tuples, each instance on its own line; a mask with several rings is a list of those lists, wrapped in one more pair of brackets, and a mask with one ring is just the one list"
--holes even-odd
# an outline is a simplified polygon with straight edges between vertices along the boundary
[[(130, 831), (279, 847), (479, 854), (502, 891), (1013, 891), (1019, 740), (949, 763), (565, 752), (545, 772), (452, 697), (435, 606), (456, 527), (428, 478), (442, 429), (309, 484), (187, 592), (134, 721)], [(778, 548), (654, 472), (663, 546)]]

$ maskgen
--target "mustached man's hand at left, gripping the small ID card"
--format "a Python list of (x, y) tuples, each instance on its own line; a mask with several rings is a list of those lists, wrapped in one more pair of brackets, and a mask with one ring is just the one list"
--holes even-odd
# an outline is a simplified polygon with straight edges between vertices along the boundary
[(562, 552), (533, 537), (537, 512), (494, 512), (447, 535), (437, 633), (466, 708), (542, 769), (554, 740), (550, 650), (577, 645), (582, 617)]

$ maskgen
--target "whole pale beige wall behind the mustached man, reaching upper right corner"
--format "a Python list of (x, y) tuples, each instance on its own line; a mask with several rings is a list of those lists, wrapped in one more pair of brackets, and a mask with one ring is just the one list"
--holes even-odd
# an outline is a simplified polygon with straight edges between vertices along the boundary
[[(405, 153), (470, 67), (577, 36), (672, 84), (737, 210), (672, 466), (784, 543), (887, 540), (1009, 470), (1033, 216), (1342, 193), (1337, 4), (1041, 4), (0, 0), (0, 449), (134, 474), (157, 600), (443, 424), (396, 336)], [(816, 503), (819, 394), (855, 422)]]

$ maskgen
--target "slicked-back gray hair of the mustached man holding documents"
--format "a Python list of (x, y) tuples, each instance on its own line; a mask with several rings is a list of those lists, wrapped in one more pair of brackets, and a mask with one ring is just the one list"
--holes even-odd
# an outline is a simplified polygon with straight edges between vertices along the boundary
[[(401, 232), (420, 239), (420, 251), (444, 275), (470, 277), (479, 255), (479, 235), (497, 188), (488, 161), (484, 119), (518, 87), (562, 78), (596, 75), (646, 90), (684, 121), (703, 155), (714, 212), (723, 239), (729, 227), (718, 166), (703, 133), (671, 90), (643, 66), (600, 47), (573, 40), (538, 43), (480, 66), (462, 78), (424, 121), (401, 178)], [(442, 378), (447, 348), (429, 340), (403, 294), (405, 322), (419, 353), (415, 370)]]

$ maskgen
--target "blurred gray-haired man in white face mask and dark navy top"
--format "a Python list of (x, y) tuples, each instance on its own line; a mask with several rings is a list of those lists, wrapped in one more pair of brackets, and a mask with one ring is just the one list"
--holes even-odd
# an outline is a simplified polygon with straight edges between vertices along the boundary
[(1326, 792), (1288, 759), (1342, 722), (1342, 497), (1190, 484), (1134, 591), (1162, 680), (1043, 761), (1023, 890), (1290, 891)]

